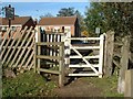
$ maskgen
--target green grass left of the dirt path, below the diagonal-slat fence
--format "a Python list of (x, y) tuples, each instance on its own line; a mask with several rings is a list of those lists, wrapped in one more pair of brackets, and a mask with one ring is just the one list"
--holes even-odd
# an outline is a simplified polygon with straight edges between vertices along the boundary
[(3, 78), (2, 96), (50, 96), (52, 89), (55, 87), (55, 82), (47, 81), (41, 75), (34, 74), (33, 70), (30, 70), (20, 74), (16, 78)]

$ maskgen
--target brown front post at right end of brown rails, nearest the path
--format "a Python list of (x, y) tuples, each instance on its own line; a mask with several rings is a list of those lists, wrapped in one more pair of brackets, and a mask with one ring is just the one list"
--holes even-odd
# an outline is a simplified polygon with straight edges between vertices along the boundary
[(64, 81), (64, 43), (60, 45), (59, 56), (59, 87), (63, 87)]

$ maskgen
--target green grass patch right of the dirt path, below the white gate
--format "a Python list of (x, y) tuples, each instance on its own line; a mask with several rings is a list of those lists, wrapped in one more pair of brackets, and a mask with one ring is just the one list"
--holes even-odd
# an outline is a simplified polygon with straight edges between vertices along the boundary
[(123, 94), (117, 92), (117, 77), (113, 75), (111, 77), (89, 77), (84, 78), (84, 80), (91, 82), (96, 88), (101, 89), (102, 97), (123, 97)]

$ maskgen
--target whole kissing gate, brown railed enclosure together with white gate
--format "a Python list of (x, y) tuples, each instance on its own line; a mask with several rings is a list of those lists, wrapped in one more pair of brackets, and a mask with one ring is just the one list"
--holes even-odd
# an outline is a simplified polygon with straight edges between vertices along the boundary
[[(43, 37), (38, 36), (39, 41), (35, 44), (38, 73), (58, 74), (59, 86), (62, 86), (64, 75), (102, 77), (104, 34), (100, 37), (71, 37), (70, 33), (47, 34), (40, 31), (40, 35)], [(42, 68), (41, 59), (49, 59), (52, 67), (58, 63), (58, 70)]]

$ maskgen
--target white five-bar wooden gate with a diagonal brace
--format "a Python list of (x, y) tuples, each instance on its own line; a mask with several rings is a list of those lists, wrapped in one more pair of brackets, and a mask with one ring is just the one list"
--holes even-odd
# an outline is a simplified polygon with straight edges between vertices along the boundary
[[(72, 41), (80, 40), (80, 41), (85, 41), (85, 42), (91, 42), (93, 41), (95, 44), (85, 44), (84, 46), (79, 45), (73, 45), (71, 44)], [(85, 70), (82, 73), (70, 73), (69, 76), (99, 76), (100, 78), (102, 77), (102, 66), (103, 66), (103, 43), (104, 43), (104, 35), (100, 35), (100, 37), (70, 37), (66, 38), (69, 43), (69, 48), (70, 48), (70, 56), (69, 56), (69, 67), (71, 68), (83, 68), (83, 69), (91, 69), (91, 70)], [(80, 51), (83, 50), (91, 50), (92, 52), (98, 52), (96, 55), (90, 54), (90, 55), (82, 55)], [(74, 52), (75, 55), (71, 55), (71, 53)], [(78, 64), (72, 64), (71, 59), (74, 59), (75, 62), (78, 59), (81, 59)], [(90, 63), (91, 59), (98, 59), (98, 63)], [(81, 63), (82, 62), (82, 63)]]

